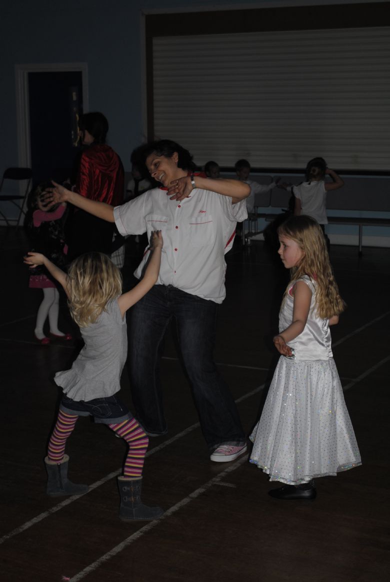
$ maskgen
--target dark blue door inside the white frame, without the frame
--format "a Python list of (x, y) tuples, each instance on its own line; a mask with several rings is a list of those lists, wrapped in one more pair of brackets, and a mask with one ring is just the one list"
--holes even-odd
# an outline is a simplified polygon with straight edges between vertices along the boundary
[(29, 73), (31, 166), (34, 185), (72, 178), (77, 120), (83, 112), (80, 71)]

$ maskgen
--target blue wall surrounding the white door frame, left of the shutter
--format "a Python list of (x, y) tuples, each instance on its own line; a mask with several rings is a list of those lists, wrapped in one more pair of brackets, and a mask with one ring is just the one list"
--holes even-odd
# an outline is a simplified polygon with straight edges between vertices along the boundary
[[(229, 2), (229, 8), (235, 5), (248, 3)], [(210, 1), (14, 0), (2, 8), (1, 174), (8, 166), (18, 165), (15, 65), (61, 62), (87, 63), (89, 110), (105, 113), (110, 124), (109, 144), (129, 170), (130, 152), (144, 139), (141, 11), (187, 10), (191, 6), (196, 10), (210, 6)], [(218, 6), (226, 8), (226, 2), (212, 0), (212, 7)]]

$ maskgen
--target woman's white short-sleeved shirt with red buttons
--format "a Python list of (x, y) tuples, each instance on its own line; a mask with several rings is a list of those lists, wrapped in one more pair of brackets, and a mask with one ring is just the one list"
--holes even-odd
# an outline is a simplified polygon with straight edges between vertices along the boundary
[[(182, 201), (169, 200), (166, 190), (154, 188), (135, 200), (114, 208), (121, 235), (141, 235), (161, 230), (164, 247), (158, 285), (173, 285), (222, 303), (225, 298), (224, 255), (231, 249), (236, 223), (247, 217), (245, 200), (195, 188)], [(149, 255), (134, 272), (139, 279)]]

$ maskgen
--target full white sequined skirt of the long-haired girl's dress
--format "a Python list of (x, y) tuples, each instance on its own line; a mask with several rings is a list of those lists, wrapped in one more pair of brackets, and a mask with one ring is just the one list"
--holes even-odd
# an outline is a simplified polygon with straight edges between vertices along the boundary
[(360, 465), (334, 360), (281, 356), (250, 439), (250, 462), (270, 481), (299, 484)]

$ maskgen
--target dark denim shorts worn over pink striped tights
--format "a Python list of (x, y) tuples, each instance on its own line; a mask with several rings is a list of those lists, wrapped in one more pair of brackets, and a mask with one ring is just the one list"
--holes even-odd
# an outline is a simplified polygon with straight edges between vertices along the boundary
[(119, 398), (108, 396), (107, 398), (94, 398), (93, 400), (72, 400), (66, 394), (62, 396), (60, 410), (67, 414), (77, 416), (93, 416), (95, 423), (119, 424), (124, 420), (130, 420), (133, 415)]

